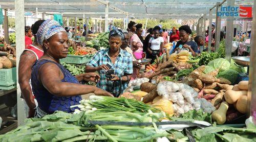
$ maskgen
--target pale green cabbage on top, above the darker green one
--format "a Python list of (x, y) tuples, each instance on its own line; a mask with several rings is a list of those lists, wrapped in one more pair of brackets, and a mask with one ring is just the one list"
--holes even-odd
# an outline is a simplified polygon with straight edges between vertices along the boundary
[(230, 63), (228, 60), (224, 58), (218, 58), (210, 61), (207, 66), (211, 66), (215, 70), (219, 69), (219, 72), (223, 72), (224, 70), (227, 70), (230, 67)]

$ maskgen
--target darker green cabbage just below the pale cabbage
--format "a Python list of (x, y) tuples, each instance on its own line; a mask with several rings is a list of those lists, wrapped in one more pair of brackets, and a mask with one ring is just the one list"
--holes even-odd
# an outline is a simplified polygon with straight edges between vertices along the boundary
[(220, 78), (220, 77), (228, 79), (233, 84), (237, 80), (238, 72), (233, 69), (227, 69), (227, 70), (224, 70), (223, 72), (220, 72), (217, 75), (217, 78)]

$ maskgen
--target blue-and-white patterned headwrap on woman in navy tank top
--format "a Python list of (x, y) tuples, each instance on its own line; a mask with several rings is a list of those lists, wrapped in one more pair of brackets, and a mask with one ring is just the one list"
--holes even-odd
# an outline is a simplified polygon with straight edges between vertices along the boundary
[(41, 24), (36, 33), (37, 42), (42, 45), (44, 40), (47, 40), (54, 34), (62, 31), (66, 32), (66, 30), (61, 27), (57, 21), (48, 19)]

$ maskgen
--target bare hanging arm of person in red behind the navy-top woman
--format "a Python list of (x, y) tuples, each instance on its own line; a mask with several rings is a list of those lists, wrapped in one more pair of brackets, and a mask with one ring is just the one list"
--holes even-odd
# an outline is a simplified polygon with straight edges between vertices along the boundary
[(31, 78), (32, 65), (35, 63), (36, 57), (34, 53), (30, 51), (24, 51), (19, 58), (18, 66), (18, 83), (22, 96), (29, 107), (29, 117), (34, 117), (35, 113), (35, 101), (33, 99), (33, 93), (29, 80)]

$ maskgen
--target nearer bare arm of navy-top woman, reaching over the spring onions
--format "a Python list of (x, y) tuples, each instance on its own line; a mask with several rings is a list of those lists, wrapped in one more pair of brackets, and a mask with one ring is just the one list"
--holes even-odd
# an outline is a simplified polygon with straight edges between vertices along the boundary
[(113, 96), (111, 93), (90, 85), (61, 82), (64, 75), (56, 64), (45, 63), (38, 70), (42, 85), (53, 95), (59, 97), (77, 96), (79, 94), (95, 93), (102, 96)]

